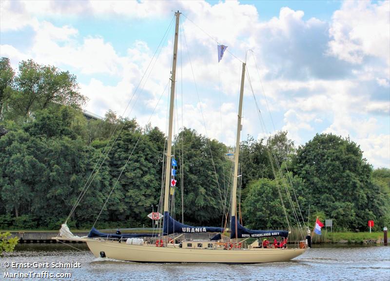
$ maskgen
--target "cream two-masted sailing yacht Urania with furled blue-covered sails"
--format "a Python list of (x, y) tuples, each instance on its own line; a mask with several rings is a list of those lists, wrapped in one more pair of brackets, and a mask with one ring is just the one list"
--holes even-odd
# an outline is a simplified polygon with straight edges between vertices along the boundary
[[(85, 241), (96, 257), (111, 258), (121, 261), (136, 262), (213, 262), (213, 263), (261, 263), (274, 261), (289, 261), (308, 249), (308, 240), (300, 241), (297, 246), (287, 246), (288, 231), (284, 230), (250, 230), (243, 227), (237, 220), (237, 178), (238, 156), (241, 131), (242, 102), (246, 63), (242, 64), (240, 85), (239, 109), (237, 119), (237, 135), (234, 153), (234, 181), (232, 189), (232, 208), (230, 217), (230, 230), (222, 227), (194, 227), (176, 221), (169, 212), (169, 190), (171, 187), (172, 163), (172, 131), (174, 116), (174, 97), (176, 82), (177, 41), (180, 14), (176, 16), (174, 54), (171, 76), (170, 112), (168, 141), (166, 151), (165, 188), (164, 188), (164, 214), (163, 228), (160, 236), (155, 234), (106, 234), (93, 228), (88, 237), (76, 237), (67, 227), (62, 225), (59, 240)], [(230, 233), (230, 238), (221, 236)], [(183, 234), (215, 233), (210, 239), (185, 240)], [(219, 234), (218, 234), (219, 233)], [(146, 237), (149, 236), (148, 239)], [(142, 239), (141, 237), (145, 238)], [(266, 247), (259, 239), (265, 237), (282, 237), (283, 243), (273, 247)], [(308, 238), (308, 237), (307, 237)], [(252, 239), (252, 243), (244, 242)], [(309, 237), (310, 240), (310, 237)]]

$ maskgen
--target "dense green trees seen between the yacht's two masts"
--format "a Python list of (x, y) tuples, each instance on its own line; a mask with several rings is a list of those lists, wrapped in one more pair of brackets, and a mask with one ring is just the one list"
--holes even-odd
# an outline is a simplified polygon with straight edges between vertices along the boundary
[[(226, 151), (223, 143), (209, 140), (188, 128), (184, 128), (176, 137), (174, 154), (179, 164), (176, 179), (178, 181), (181, 179), (180, 163), (182, 163), (186, 222), (194, 225), (221, 224), (223, 215), (221, 197), (222, 201), (225, 201), (224, 194), (228, 188), (227, 180), (224, 179), (224, 169), (225, 173), (228, 173), (231, 167), (231, 163), (222, 158)], [(176, 210), (181, 210), (181, 203), (179, 203), (181, 194), (178, 188), (180, 184), (178, 182), (176, 187)], [(227, 200), (229, 201), (229, 198)], [(177, 213), (181, 215), (180, 211)]]

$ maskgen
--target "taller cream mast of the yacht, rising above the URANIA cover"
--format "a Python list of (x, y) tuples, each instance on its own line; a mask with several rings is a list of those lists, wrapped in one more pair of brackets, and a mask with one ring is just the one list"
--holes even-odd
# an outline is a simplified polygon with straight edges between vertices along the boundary
[(164, 213), (168, 212), (169, 206), (169, 187), (171, 179), (171, 152), (172, 152), (172, 129), (174, 119), (174, 101), (175, 101), (175, 82), (176, 82), (176, 60), (177, 60), (177, 41), (179, 36), (179, 11), (175, 13), (176, 27), (175, 27), (175, 42), (174, 42), (174, 56), (172, 61), (172, 77), (171, 77), (171, 102), (169, 105), (169, 125), (168, 125), (168, 143), (167, 143), (167, 159), (165, 169), (165, 191), (164, 191)]

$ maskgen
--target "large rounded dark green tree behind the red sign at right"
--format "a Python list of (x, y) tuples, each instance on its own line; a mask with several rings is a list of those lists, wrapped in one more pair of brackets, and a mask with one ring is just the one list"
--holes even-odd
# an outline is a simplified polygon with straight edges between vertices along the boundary
[[(371, 166), (349, 138), (316, 135), (297, 150), (293, 171), (306, 185), (313, 211), (324, 211), (341, 229), (365, 229), (382, 216), (383, 194), (370, 181)], [(380, 203), (379, 203), (380, 204)]]

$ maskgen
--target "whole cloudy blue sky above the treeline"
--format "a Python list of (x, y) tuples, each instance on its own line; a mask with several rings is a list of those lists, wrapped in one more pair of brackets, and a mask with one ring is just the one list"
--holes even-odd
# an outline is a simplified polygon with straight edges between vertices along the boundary
[[(84, 109), (166, 132), (177, 10), (176, 134), (234, 145), (246, 60), (241, 139), (283, 130), (298, 146), (332, 133), (390, 168), (388, 0), (1, 0), (0, 56), (15, 70), (33, 59), (69, 71)], [(219, 63), (218, 43), (228, 46)]]

